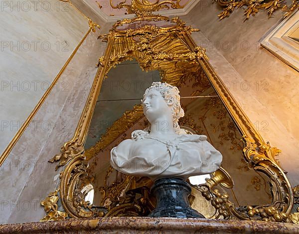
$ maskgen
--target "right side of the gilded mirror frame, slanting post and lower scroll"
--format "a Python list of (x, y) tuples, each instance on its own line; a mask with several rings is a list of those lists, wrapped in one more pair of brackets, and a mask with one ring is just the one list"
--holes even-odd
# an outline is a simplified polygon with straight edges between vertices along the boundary
[[(195, 47), (196, 45), (192, 38), (189, 36), (188, 39), (190, 40), (191, 48)], [(232, 116), (236, 126), (243, 134), (243, 141), (246, 144), (246, 147), (243, 149), (244, 159), (248, 163), (249, 168), (267, 175), (271, 182), (273, 206), (278, 211), (289, 214), (294, 202), (292, 187), (275, 159), (281, 151), (275, 147), (270, 147), (270, 143), (266, 143), (263, 140), (222, 80), (217, 76), (210, 63), (205, 59), (199, 59), (198, 62)]]

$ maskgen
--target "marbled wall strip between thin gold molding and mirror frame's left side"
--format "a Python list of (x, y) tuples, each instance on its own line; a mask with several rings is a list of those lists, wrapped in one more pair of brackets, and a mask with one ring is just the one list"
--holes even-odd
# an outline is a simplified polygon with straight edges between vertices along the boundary
[[(55, 190), (59, 174), (55, 172), (56, 164), (47, 161), (59, 153), (77, 127), (97, 72), (97, 59), (105, 50), (105, 44), (97, 40), (98, 32), (89, 34), (60, 77), (60, 82), (69, 83), (67, 89), (54, 88), (32, 121), (49, 122), (50, 130), (37, 127), (24, 132), (1, 167), (1, 187), (7, 188), (1, 199), (9, 203), (2, 206), (1, 223), (38, 221), (45, 215), (39, 201)], [(24, 162), (28, 168), (22, 166)], [(18, 165), (18, 168), (10, 165)]]

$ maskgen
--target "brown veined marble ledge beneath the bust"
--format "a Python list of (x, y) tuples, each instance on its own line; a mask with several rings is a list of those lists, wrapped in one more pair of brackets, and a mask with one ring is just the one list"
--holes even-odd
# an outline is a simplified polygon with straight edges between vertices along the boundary
[(275, 233), (299, 234), (299, 225), (261, 221), (114, 217), (0, 225), (0, 234), (40, 233)]

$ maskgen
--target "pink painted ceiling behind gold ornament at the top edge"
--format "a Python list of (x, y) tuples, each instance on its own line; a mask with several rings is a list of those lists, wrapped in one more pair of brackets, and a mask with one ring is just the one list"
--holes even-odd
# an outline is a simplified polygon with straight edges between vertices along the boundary
[[(114, 9), (110, 5), (109, 0), (84, 0), (90, 7), (92, 7), (96, 12), (103, 12), (108, 16), (122, 16), (127, 14), (127, 9)], [(190, 0), (181, 0), (180, 5), (186, 5)], [(112, 0), (114, 5), (120, 3), (121, 0)], [(127, 0), (126, 4), (131, 4), (132, 0)], [(149, 2), (155, 2), (155, 0), (149, 0)], [(186, 7), (186, 6), (185, 6)], [(172, 8), (170, 8), (172, 9)], [(167, 9), (161, 9), (161, 11)]]

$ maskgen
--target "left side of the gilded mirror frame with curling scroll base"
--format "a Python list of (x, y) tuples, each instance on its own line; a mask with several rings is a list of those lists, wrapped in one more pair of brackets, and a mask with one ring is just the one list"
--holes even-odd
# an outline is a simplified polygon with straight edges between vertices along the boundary
[[(105, 53), (109, 52), (108, 48)], [(50, 160), (50, 162), (59, 161), (55, 170), (60, 166), (65, 166), (60, 173), (60, 199), (64, 211), (72, 218), (102, 217), (105, 214), (105, 209), (91, 208), (84, 200), (85, 194), (80, 191), (82, 189), (80, 182), (86, 176), (87, 167), (83, 145), (103, 81), (103, 70), (99, 68), (97, 71), (73, 138), (64, 144), (60, 154)]]

